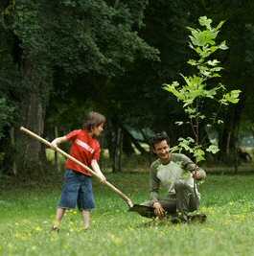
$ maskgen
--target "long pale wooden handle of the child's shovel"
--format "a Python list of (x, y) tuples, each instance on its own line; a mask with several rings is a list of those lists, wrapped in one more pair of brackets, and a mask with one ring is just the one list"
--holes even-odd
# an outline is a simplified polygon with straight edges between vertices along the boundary
[[(35, 134), (34, 132), (32, 132), (31, 130), (27, 129), (27, 128), (23, 128), (21, 127), (20, 130), (26, 132), (27, 134), (31, 135), (32, 137), (34, 137), (35, 139), (37, 139), (38, 141), (44, 143), (45, 145), (47, 145), (48, 147), (52, 147), (52, 144), (50, 142), (48, 142), (47, 140), (41, 138), (40, 136), (38, 136), (37, 134)], [(53, 149), (53, 148), (52, 148)], [(74, 158), (73, 156), (71, 156), (70, 154), (66, 153), (65, 151), (60, 150), (59, 148), (53, 149), (55, 151), (58, 151), (59, 153), (61, 153), (63, 156), (65, 156), (66, 158), (69, 158), (70, 160), (72, 160), (73, 162), (75, 162), (76, 164), (80, 165), (83, 169), (85, 169), (87, 172), (89, 172), (91, 175), (96, 176), (97, 178), (101, 179), (100, 175), (97, 175), (97, 173), (95, 173), (93, 170), (91, 170), (89, 167), (87, 167), (86, 165), (84, 165), (83, 163), (81, 163), (79, 160), (77, 160), (76, 158)], [(108, 181), (105, 181), (104, 184), (109, 187), (111, 190), (113, 190), (116, 194), (118, 194), (121, 198), (125, 199), (127, 202), (127, 205), (131, 208), (133, 207), (133, 203), (132, 201), (127, 198), (127, 196), (122, 193), (120, 190), (118, 190), (116, 187), (114, 187), (112, 184), (110, 184)]]

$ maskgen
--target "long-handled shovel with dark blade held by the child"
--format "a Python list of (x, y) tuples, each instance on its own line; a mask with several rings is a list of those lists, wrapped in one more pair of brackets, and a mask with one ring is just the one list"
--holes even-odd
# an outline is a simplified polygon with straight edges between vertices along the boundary
[[(24, 131), (25, 133), (29, 134), (30, 136), (34, 137), (38, 141), (44, 143), (45, 145), (47, 145), (48, 147), (51, 148), (51, 143), (50, 142), (48, 142), (47, 140), (45, 140), (45, 139), (41, 138), (40, 136), (36, 135), (31, 130), (29, 130), (27, 128), (23, 128), (23, 127), (21, 127), (20, 130)], [(97, 178), (101, 179), (100, 175), (97, 175), (97, 173), (95, 173), (93, 170), (91, 170), (89, 167), (87, 167), (86, 165), (81, 163), (79, 160), (77, 160), (76, 158), (74, 158), (70, 154), (66, 153), (65, 151), (60, 150), (59, 148), (54, 149), (54, 150), (58, 151), (59, 153), (61, 153), (66, 158), (69, 158), (70, 160), (72, 160), (76, 164), (80, 165), (83, 169), (85, 169), (91, 175), (94, 175)], [(148, 217), (148, 218), (154, 217), (154, 208), (153, 207), (144, 206), (144, 205), (140, 205), (140, 204), (133, 204), (132, 201), (129, 198), (127, 198), (127, 196), (124, 193), (122, 193), (120, 190), (118, 190), (116, 187), (114, 187), (108, 181), (105, 181), (104, 184), (107, 187), (109, 187), (111, 190), (113, 190), (116, 194), (118, 194), (121, 198), (123, 198), (127, 202), (129, 211), (137, 212), (141, 216)]]

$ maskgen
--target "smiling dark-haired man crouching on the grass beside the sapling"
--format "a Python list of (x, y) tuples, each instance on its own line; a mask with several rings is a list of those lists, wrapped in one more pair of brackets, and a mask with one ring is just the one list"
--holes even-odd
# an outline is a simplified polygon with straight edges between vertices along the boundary
[[(170, 140), (162, 133), (153, 137), (151, 147), (158, 159), (150, 165), (150, 200), (141, 205), (152, 206), (155, 216), (163, 217), (167, 212), (187, 222), (189, 212), (195, 211), (200, 201), (195, 180), (204, 179), (206, 174), (199, 167), (196, 170), (196, 164), (185, 154), (171, 153)], [(168, 189), (166, 198), (159, 197), (161, 184)]]

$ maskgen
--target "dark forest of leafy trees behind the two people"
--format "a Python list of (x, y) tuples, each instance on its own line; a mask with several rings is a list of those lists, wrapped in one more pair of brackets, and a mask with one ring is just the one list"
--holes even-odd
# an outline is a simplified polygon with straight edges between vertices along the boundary
[[(137, 151), (149, 161), (155, 132), (166, 132), (172, 144), (188, 136), (190, 129), (175, 126), (186, 119), (182, 106), (162, 85), (179, 73), (192, 74), (187, 27), (198, 27), (202, 15), (215, 25), (225, 20), (219, 38), (229, 50), (218, 54), (224, 70), (215, 82), (242, 91), (240, 103), (219, 114), (223, 124), (210, 136), (220, 151), (206, 164), (237, 171), (241, 159), (251, 160), (251, 151), (241, 147), (246, 134), (253, 146), (251, 1), (5, 0), (0, 8), (2, 177), (29, 179), (48, 170), (45, 147), (22, 134), (21, 126), (51, 141), (81, 128), (90, 110), (106, 117), (100, 142), (113, 173)], [(205, 107), (212, 112), (213, 106)]]

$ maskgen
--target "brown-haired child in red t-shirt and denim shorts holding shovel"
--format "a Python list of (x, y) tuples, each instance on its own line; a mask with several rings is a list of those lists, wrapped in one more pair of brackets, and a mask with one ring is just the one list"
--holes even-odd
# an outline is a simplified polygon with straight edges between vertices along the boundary
[[(87, 167), (101, 176), (101, 181), (105, 177), (101, 172), (98, 160), (100, 158), (100, 144), (96, 136), (104, 130), (105, 118), (97, 112), (90, 112), (87, 115), (83, 129), (76, 129), (63, 137), (58, 137), (52, 141), (52, 148), (57, 148), (59, 144), (71, 141), (71, 156), (81, 161)], [(75, 209), (78, 204), (82, 212), (84, 229), (90, 229), (90, 211), (95, 208), (91, 174), (70, 159), (67, 159), (65, 180), (62, 195), (58, 204), (57, 216), (52, 231), (59, 231), (60, 221), (66, 209)]]

